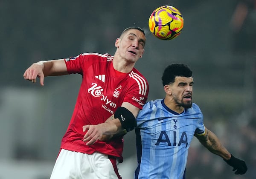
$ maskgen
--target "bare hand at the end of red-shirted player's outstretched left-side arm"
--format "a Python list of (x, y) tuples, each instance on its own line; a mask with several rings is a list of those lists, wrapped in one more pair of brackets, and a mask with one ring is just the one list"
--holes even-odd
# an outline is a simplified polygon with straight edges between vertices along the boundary
[(44, 72), (41, 64), (34, 63), (32, 64), (23, 74), (25, 80), (36, 82), (36, 78), (40, 79), (40, 84), (44, 86)]

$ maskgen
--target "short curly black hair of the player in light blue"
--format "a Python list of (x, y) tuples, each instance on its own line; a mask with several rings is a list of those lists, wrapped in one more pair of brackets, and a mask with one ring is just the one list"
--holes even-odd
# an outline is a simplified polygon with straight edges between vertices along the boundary
[(176, 76), (191, 77), (192, 71), (185, 64), (171, 64), (166, 67), (162, 76), (163, 86), (174, 83)]

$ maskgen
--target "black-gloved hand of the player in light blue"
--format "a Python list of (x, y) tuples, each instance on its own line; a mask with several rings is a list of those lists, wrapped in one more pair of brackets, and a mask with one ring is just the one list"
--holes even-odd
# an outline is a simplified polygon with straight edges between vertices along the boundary
[(231, 158), (229, 160), (225, 160), (228, 165), (233, 167), (233, 171), (235, 171), (236, 175), (242, 175), (247, 171), (247, 166), (243, 160), (237, 159), (231, 154)]

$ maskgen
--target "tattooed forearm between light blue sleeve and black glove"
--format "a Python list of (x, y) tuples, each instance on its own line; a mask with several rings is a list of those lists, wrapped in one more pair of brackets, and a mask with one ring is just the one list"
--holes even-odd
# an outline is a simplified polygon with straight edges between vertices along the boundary
[(223, 159), (229, 160), (231, 154), (227, 151), (227, 149), (221, 144), (221, 141), (218, 137), (212, 133), (212, 131), (208, 130), (205, 127), (205, 134), (203, 136), (199, 136), (195, 134), (196, 138), (204, 145), (210, 152), (221, 156)]

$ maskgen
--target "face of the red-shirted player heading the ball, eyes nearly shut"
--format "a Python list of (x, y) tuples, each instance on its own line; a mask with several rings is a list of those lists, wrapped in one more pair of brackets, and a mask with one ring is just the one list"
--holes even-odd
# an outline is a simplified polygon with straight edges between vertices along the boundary
[(142, 57), (145, 46), (145, 35), (137, 29), (130, 29), (116, 39), (115, 46), (121, 58), (136, 62)]

